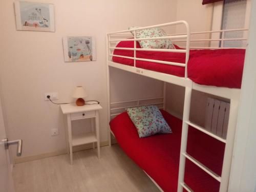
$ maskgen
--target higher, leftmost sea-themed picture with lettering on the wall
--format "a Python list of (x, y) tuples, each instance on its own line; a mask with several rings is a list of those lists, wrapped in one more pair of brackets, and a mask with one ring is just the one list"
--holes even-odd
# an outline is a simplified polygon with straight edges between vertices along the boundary
[(17, 1), (14, 7), (17, 30), (55, 31), (53, 4)]

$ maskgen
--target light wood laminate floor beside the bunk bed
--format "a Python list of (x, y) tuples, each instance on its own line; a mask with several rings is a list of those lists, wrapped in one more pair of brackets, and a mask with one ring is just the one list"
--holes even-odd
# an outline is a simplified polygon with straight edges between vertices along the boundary
[(16, 192), (159, 191), (118, 144), (96, 150), (18, 163), (13, 168)]

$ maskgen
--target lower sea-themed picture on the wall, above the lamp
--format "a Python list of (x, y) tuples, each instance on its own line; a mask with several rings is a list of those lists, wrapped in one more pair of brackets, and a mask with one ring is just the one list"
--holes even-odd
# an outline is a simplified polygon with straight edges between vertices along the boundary
[(67, 62), (96, 60), (95, 38), (91, 36), (63, 37), (63, 50)]

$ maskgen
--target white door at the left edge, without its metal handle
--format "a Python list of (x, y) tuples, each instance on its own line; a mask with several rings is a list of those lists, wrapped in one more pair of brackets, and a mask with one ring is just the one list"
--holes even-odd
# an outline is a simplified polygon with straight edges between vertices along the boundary
[(0, 191), (14, 192), (9, 152), (3, 140), (6, 138), (3, 112), (0, 100)]

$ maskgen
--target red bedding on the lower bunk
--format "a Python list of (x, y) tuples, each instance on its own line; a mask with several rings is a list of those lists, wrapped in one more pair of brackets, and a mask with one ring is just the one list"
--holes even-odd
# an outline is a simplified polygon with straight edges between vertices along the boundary
[[(182, 121), (161, 110), (172, 134), (139, 138), (126, 112), (111, 122), (111, 130), (123, 151), (150, 175), (164, 191), (177, 191)], [(189, 127), (187, 153), (221, 175), (225, 144)], [(185, 183), (194, 191), (219, 191), (220, 183), (186, 160)]]

